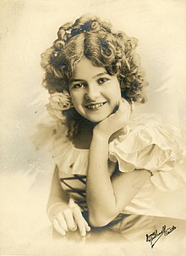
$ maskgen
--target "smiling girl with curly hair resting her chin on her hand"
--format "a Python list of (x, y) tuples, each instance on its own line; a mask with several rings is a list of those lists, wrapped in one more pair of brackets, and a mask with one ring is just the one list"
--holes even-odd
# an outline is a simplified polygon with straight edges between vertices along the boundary
[(158, 214), (154, 189), (167, 188), (163, 173), (183, 159), (176, 129), (131, 118), (147, 86), (136, 46), (134, 37), (83, 15), (61, 26), (41, 54), (52, 121), (40, 125), (38, 144), (48, 139), (56, 163), (47, 214), (62, 236), (101, 226), (122, 231), (136, 214)]

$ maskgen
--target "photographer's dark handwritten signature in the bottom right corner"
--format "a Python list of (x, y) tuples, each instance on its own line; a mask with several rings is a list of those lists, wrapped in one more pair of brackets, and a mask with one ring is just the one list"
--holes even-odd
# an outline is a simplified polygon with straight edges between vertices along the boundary
[(164, 235), (164, 237), (168, 236), (172, 231), (174, 231), (177, 227), (175, 225), (172, 225), (172, 227), (166, 228), (166, 225), (162, 226), (161, 232), (154, 231), (150, 235), (146, 234), (146, 242), (150, 242), (151, 248), (153, 248), (156, 244), (156, 242)]

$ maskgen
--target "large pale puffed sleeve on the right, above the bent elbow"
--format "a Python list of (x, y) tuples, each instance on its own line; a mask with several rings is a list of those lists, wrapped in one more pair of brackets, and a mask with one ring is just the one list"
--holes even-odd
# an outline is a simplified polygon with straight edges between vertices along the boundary
[(146, 118), (129, 126), (127, 134), (109, 144), (109, 159), (118, 162), (120, 171), (145, 169), (154, 175), (172, 170), (185, 159), (185, 137), (176, 127)]

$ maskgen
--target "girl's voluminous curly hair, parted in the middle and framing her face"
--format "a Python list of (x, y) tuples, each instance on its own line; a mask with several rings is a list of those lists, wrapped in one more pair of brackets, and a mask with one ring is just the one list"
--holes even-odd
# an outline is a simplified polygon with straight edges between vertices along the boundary
[[(83, 15), (74, 23), (61, 26), (57, 40), (41, 54), (41, 67), (45, 70), (42, 84), (49, 93), (68, 92), (75, 65), (87, 58), (91, 64), (104, 67), (109, 75), (117, 75), (122, 96), (129, 103), (145, 103), (144, 88), (148, 83), (135, 53), (137, 43), (136, 38), (123, 31), (113, 31), (110, 23)], [(72, 139), (78, 133), (80, 117), (76, 111), (71, 112), (74, 114), (68, 110), (63, 114), (68, 117), (68, 136)]]

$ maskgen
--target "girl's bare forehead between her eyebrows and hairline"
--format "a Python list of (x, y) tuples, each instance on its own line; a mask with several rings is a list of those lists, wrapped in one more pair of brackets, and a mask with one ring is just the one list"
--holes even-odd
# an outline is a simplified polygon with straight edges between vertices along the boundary
[(76, 65), (74, 69), (75, 79), (88, 79), (93, 78), (96, 75), (107, 74), (107, 71), (103, 67), (96, 67), (91, 64), (88, 58), (82, 58)]

